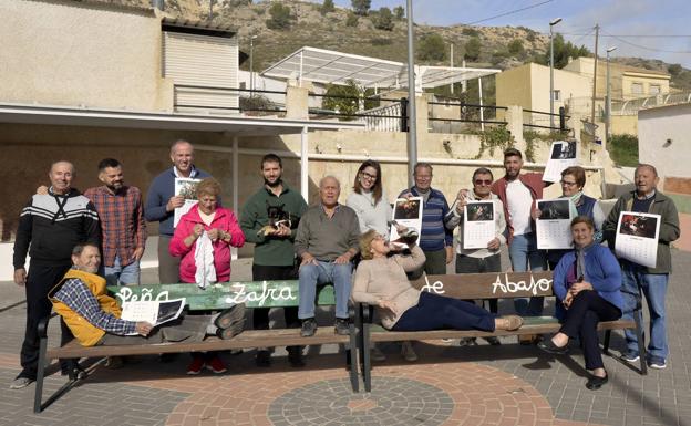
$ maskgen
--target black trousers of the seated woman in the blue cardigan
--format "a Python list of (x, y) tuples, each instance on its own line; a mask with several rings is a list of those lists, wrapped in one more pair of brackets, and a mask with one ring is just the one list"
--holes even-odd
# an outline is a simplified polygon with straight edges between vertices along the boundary
[(570, 339), (580, 339), (587, 370), (604, 368), (597, 324), (600, 321), (615, 321), (619, 318), (621, 318), (619, 308), (602, 299), (596, 291), (584, 290), (571, 301), (559, 331)]

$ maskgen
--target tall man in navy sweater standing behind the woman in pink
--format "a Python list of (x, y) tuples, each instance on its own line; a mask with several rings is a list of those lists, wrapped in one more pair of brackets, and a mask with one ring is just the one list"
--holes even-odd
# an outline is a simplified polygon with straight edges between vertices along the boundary
[[(171, 256), (168, 245), (173, 238), (175, 209), (185, 204), (182, 196), (175, 195), (175, 178), (204, 179), (210, 175), (194, 166), (194, 146), (178, 139), (171, 146), (173, 167), (156, 176), (148, 188), (144, 216), (148, 221), (158, 222), (158, 282), (179, 282), (179, 258)], [(220, 200), (218, 200), (220, 204)]]

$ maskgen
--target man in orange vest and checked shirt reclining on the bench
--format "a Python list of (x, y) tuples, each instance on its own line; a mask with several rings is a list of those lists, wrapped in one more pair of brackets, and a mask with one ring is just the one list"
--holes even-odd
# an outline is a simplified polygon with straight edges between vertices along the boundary
[(122, 320), (115, 299), (107, 295), (105, 279), (97, 276), (99, 248), (80, 243), (72, 250), (73, 267), (48, 294), (53, 309), (83, 346), (202, 341), (207, 334), (233, 337), (243, 330), (245, 305), (221, 313), (190, 315), (173, 325), (154, 328), (147, 322)]

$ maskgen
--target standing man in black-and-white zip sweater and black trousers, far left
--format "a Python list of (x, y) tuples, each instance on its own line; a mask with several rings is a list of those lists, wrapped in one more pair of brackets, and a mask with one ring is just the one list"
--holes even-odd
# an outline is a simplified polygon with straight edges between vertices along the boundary
[[(22, 371), (10, 385), (21, 388), (35, 381), (39, 363), (39, 321), (50, 315), (48, 291), (72, 266), (72, 248), (80, 242), (100, 245), (99, 215), (89, 198), (72, 188), (74, 166), (51, 165), (48, 194), (37, 194), (21, 211), (14, 240), (14, 282), (27, 291), (27, 330), (21, 349)], [(31, 249), (29, 248), (31, 246)], [(24, 268), (31, 256), (29, 273)], [(72, 339), (63, 325), (62, 343)], [(61, 363), (63, 374), (75, 374), (76, 364)]]

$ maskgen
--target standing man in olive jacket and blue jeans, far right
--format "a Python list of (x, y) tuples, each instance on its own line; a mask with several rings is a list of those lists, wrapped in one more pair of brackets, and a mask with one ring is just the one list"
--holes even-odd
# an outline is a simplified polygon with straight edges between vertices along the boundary
[[(672, 272), (672, 256), (670, 243), (681, 233), (679, 229), (679, 214), (671, 198), (657, 189), (658, 170), (650, 164), (639, 164), (633, 174), (636, 189), (622, 195), (602, 224), (605, 238), (609, 247), (615, 248), (617, 225), (621, 211), (638, 211), (660, 215), (660, 235), (658, 237), (658, 252), (654, 268), (633, 263), (626, 259), (621, 262), (621, 294), (625, 306), (622, 319), (632, 319), (636, 308), (636, 294), (642, 294), (648, 302), (650, 313), (650, 334), (648, 343), (648, 359), (644, 360), (651, 368), (667, 367), (669, 347), (667, 343), (667, 315), (664, 298), (669, 274)], [(639, 315), (641, 313), (639, 312)], [(642, 323), (642, 315), (640, 318)], [(621, 354), (623, 361), (635, 363), (639, 361), (638, 339), (631, 330), (625, 331), (627, 351)]]

